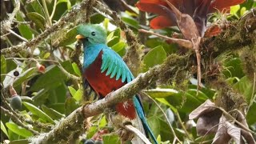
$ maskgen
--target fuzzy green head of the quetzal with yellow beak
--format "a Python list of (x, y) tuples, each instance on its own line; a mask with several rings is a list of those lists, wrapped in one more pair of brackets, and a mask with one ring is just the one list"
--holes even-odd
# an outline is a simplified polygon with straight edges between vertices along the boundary
[(83, 45), (106, 44), (106, 31), (102, 26), (93, 24), (80, 25), (77, 28), (76, 38), (82, 40)]

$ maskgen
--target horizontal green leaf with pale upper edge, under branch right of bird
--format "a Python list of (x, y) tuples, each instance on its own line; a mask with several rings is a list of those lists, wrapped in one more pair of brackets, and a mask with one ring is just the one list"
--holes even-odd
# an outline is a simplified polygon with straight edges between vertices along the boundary
[(149, 94), (152, 98), (165, 98), (178, 93), (178, 91), (174, 89), (160, 89), (160, 88), (145, 90), (145, 92), (146, 94)]

